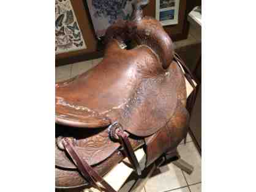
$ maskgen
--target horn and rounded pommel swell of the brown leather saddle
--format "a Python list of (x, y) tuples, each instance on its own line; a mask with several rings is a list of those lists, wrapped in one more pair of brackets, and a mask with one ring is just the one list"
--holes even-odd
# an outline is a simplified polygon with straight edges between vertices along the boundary
[(107, 43), (116, 39), (120, 44), (135, 40), (138, 45), (147, 45), (159, 56), (162, 67), (167, 69), (173, 61), (173, 42), (159, 21), (143, 16), (142, 8), (148, 3), (148, 0), (135, 1), (131, 19), (116, 21), (107, 29), (105, 39)]

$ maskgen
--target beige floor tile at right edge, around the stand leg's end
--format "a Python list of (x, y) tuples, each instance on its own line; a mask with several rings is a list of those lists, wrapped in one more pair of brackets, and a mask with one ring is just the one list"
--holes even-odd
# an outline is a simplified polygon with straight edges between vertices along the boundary
[(192, 172), (192, 174), (189, 175), (184, 172), (187, 183), (189, 183), (190, 185), (201, 182), (201, 156), (198, 153), (194, 142), (187, 142), (186, 145), (179, 145), (178, 152), (184, 161), (187, 161), (187, 163), (194, 166), (194, 171)]

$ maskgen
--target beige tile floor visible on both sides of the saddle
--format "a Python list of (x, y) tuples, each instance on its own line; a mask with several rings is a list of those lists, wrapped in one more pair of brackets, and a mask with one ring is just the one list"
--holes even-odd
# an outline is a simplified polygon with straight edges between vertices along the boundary
[[(76, 64), (56, 67), (56, 82), (72, 78), (97, 65), (102, 59), (78, 62)], [(160, 168), (157, 174), (153, 174), (141, 192), (200, 192), (201, 191), (201, 157), (197, 152), (192, 139), (188, 135), (186, 145), (181, 142), (178, 146), (179, 154), (183, 160), (194, 166), (191, 175), (181, 171), (170, 163)]]

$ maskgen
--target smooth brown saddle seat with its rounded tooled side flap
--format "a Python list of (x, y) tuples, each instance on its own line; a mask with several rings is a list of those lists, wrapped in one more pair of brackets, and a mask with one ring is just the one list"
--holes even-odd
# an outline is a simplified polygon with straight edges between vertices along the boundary
[(56, 123), (99, 128), (118, 121), (129, 133), (152, 135), (175, 111), (177, 73), (162, 68), (148, 46), (122, 50), (113, 39), (95, 68), (56, 84)]

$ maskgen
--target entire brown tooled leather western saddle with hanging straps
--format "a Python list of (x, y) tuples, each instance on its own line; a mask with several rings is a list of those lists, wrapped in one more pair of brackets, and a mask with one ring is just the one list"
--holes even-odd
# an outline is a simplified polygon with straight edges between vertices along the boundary
[[(140, 175), (135, 150), (145, 150), (146, 167), (187, 134), (184, 64), (159, 21), (143, 17), (147, 2), (137, 1), (131, 20), (107, 29), (100, 64), (56, 84), (58, 189), (114, 192), (103, 176), (116, 164), (128, 157)], [(127, 40), (137, 46), (123, 49)]]

